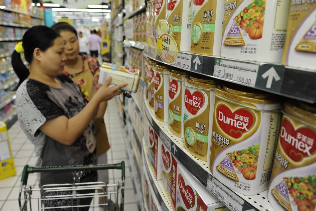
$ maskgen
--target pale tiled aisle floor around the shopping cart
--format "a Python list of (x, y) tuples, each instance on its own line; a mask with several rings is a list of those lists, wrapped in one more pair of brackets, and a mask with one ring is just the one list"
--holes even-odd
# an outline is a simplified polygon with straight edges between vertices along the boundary
[[(117, 108), (116, 99), (112, 99), (108, 103), (105, 114), (107, 132), (111, 144), (111, 148), (107, 152), (108, 163), (112, 164), (119, 163), (122, 160), (125, 161), (125, 210), (137, 210), (134, 189), (128, 168), (129, 163), (125, 153), (127, 138), (123, 128), (123, 121), (118, 115)], [(33, 152), (33, 144), (27, 140), (18, 122), (9, 129), (9, 138), (15, 161), (16, 176), (0, 180), (1, 211), (19, 210), (18, 193), (23, 166), (25, 164), (34, 165), (37, 159)], [(110, 170), (109, 179), (109, 183), (121, 181), (121, 172), (118, 170)], [(38, 187), (35, 174), (30, 174), (27, 184), (32, 187)], [(33, 205), (32, 208), (36, 208), (34, 210), (37, 210), (37, 204), (35, 205)], [(95, 208), (94, 210), (98, 211), (99, 208)]]

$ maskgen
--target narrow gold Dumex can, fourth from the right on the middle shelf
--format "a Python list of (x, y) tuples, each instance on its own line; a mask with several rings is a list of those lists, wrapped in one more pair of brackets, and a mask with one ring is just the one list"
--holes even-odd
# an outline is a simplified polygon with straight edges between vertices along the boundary
[(182, 138), (184, 114), (184, 80), (186, 72), (179, 69), (169, 71), (168, 121), (171, 133)]

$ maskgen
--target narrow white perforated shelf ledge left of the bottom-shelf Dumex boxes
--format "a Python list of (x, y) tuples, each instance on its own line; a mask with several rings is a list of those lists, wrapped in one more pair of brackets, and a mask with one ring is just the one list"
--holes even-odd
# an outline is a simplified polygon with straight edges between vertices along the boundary
[(144, 145), (145, 145), (145, 141), (143, 140), (143, 149), (144, 149), (144, 153), (145, 153), (145, 156), (143, 156), (143, 157), (145, 158), (145, 169), (146, 169), (148, 176), (149, 176), (149, 182), (154, 189), (155, 195), (157, 196), (157, 199), (162, 207), (162, 210), (165, 210), (165, 211), (166, 210), (173, 210), (172, 202), (170, 201), (170, 198), (167, 197), (167, 195), (165, 194), (162, 180), (158, 180), (158, 181), (156, 180), (155, 170), (150, 165), (150, 161), (149, 161), (148, 157), (146, 156), (147, 149)]

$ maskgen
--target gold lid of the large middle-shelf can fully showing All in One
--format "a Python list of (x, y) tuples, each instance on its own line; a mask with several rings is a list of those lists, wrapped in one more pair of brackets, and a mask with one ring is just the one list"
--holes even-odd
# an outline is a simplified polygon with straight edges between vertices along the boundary
[(258, 104), (273, 104), (280, 101), (274, 94), (238, 84), (220, 84), (216, 87), (215, 94), (224, 98), (228, 98), (232, 101), (239, 102), (243, 101)]

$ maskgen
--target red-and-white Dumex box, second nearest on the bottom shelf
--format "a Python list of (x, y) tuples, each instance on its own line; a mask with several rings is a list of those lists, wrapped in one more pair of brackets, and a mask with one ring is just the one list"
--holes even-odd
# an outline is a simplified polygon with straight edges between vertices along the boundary
[(162, 180), (163, 187), (173, 203), (173, 209), (175, 209), (178, 161), (173, 157), (162, 140), (159, 142), (158, 147), (160, 148), (160, 153), (158, 155), (158, 164), (160, 164), (158, 179)]

